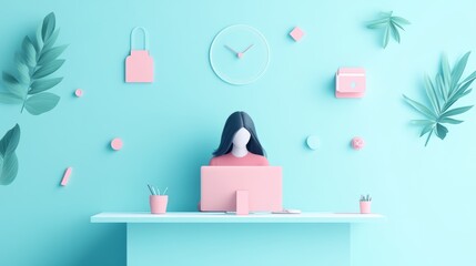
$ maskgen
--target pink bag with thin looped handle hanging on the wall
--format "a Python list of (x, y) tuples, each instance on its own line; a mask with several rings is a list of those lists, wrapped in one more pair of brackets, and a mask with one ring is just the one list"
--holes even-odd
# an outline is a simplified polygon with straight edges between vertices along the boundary
[[(144, 50), (134, 50), (135, 31), (144, 33)], [(131, 32), (131, 55), (125, 59), (125, 82), (153, 82), (154, 62), (149, 55), (149, 33), (142, 27), (135, 27)]]

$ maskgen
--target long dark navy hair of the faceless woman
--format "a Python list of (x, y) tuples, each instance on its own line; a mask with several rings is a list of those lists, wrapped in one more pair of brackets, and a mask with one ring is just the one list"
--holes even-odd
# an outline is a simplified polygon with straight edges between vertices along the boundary
[(221, 156), (227, 154), (233, 147), (233, 137), (240, 129), (246, 129), (250, 134), (250, 141), (246, 144), (249, 152), (265, 156), (264, 149), (261, 146), (257, 140), (256, 130), (254, 129), (253, 120), (245, 112), (239, 111), (232, 113), (226, 120), (225, 126), (223, 127), (222, 141), (220, 146), (213, 153), (214, 156)]

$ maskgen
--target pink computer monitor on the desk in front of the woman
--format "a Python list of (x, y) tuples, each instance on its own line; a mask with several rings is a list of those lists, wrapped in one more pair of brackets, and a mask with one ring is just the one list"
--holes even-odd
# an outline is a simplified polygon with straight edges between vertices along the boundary
[(240, 214), (242, 209), (246, 214), (283, 209), (278, 166), (202, 166), (201, 178), (202, 211)]

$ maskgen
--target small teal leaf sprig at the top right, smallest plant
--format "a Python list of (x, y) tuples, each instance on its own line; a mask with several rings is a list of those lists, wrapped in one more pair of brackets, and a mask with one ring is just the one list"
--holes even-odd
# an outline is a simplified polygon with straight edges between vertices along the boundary
[(383, 40), (383, 47), (384, 49), (387, 47), (391, 35), (394, 38), (395, 41), (399, 43), (401, 41), (401, 34), (398, 32), (398, 29), (405, 30), (403, 27), (411, 24), (411, 22), (402, 17), (393, 16), (393, 11), (389, 12), (382, 12), (379, 19), (376, 19), (374, 21), (371, 21), (367, 24), (368, 29), (384, 29), (384, 40)]

